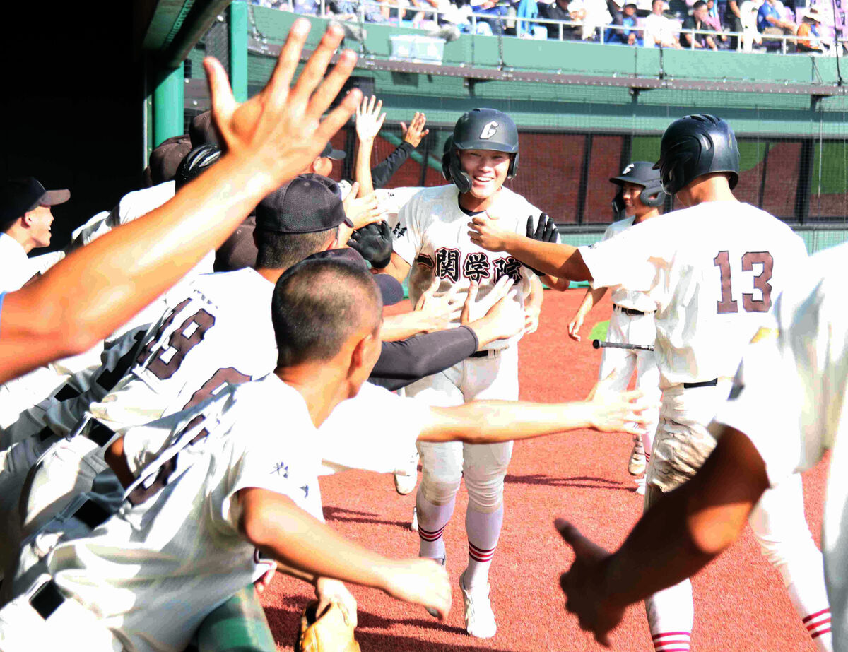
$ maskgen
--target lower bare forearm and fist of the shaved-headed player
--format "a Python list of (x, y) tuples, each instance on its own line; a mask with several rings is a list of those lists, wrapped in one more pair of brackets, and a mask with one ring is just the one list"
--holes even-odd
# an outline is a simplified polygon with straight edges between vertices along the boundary
[(389, 560), (316, 520), (291, 499), (266, 489), (237, 493), (239, 531), (264, 554), (303, 573), (379, 588), (393, 598), (450, 610), (448, 574), (433, 560)]

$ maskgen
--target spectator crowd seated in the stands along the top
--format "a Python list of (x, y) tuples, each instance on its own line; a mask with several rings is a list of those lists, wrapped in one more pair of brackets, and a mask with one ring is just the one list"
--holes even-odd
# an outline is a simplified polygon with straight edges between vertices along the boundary
[[(803, 1), (803, 0), (801, 0)], [(835, 54), (844, 16), (798, 0), (251, 0), (305, 15), (639, 47)], [(785, 46), (784, 46), (785, 41)]]

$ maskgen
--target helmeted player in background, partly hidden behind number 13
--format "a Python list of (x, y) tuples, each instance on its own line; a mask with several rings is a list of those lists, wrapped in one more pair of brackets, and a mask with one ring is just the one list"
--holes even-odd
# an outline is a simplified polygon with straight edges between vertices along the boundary
[[(609, 240), (634, 225), (660, 215), (660, 206), (666, 199), (666, 193), (662, 192), (660, 173), (653, 169), (653, 164), (634, 161), (624, 168), (621, 175), (613, 176), (610, 181), (618, 187), (616, 197), (612, 200), (617, 221), (606, 229), (603, 240)], [(583, 320), (605, 293), (605, 287), (589, 287), (586, 291), (583, 303), (568, 325), (568, 336), (573, 340), (580, 341)], [(607, 340), (611, 343), (653, 345), (656, 337), (655, 310), (656, 304), (647, 294), (616, 290), (612, 293), (612, 316)], [(630, 376), (636, 371), (636, 387), (650, 398), (651, 403), (659, 404), (660, 371), (652, 352), (632, 348), (604, 348), (599, 376), (606, 378), (612, 371), (616, 371), (616, 386), (622, 389), (628, 386)], [(652, 410), (652, 415), (645, 432), (633, 438), (633, 451), (628, 463), (628, 471), (632, 476), (641, 476), (645, 458), (650, 458), (650, 444), (656, 431), (658, 412)], [(636, 493), (644, 493), (644, 477), (637, 480), (637, 485)]]

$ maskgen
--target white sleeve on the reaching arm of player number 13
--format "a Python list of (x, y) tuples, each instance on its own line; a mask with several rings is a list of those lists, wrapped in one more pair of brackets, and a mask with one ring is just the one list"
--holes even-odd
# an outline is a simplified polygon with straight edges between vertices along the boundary
[(661, 242), (651, 238), (655, 230), (644, 228), (647, 226), (651, 225), (622, 231), (591, 247), (577, 248), (592, 275), (593, 287), (644, 293), (664, 289), (670, 261), (661, 254)]

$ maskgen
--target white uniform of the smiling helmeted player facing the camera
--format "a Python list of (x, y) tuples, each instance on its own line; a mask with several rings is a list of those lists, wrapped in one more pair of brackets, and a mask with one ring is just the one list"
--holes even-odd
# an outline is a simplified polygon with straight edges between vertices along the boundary
[[(473, 320), (488, 311), (491, 306), (488, 294), (494, 284), (506, 275), (515, 281), (512, 300), (523, 307), (531, 292), (533, 272), (507, 254), (490, 254), (471, 243), (467, 225), (473, 214), (461, 209), (459, 202), (458, 187), (440, 186), (422, 190), (400, 209), (398, 226), (401, 231), (394, 241), (394, 253), (411, 265), (410, 299), (415, 303), (434, 279), (438, 279), (438, 293), (447, 292), (455, 286), (465, 290), (471, 281), (477, 281), (479, 301), (475, 314), (470, 315)], [(505, 187), (500, 188), (490, 211), (500, 216), (505, 229), (522, 235), (527, 231), (527, 217), (533, 215), (538, 220), (541, 213), (526, 199)], [(405, 393), (427, 404), (445, 407), (483, 398), (516, 400), (516, 343), (520, 338), (521, 335), (516, 335), (489, 343), (483, 350), (445, 371), (412, 383), (405, 388)], [(468, 490), (466, 533), (469, 561), (460, 583), (466, 582), (469, 578), (467, 573), (470, 573), (471, 582), (477, 584), (478, 598), (483, 598), (483, 603), (477, 606), (479, 613), (483, 614), (479, 622), (469, 621), (474, 614), (466, 604), (466, 629), (471, 628), (474, 635), (491, 636), (495, 625), (494, 613), (488, 607), (488, 567), (503, 524), (504, 477), (512, 454), (512, 442), (422, 442), (418, 450), (422, 468), (416, 497), (419, 554), (444, 560), (442, 535), (453, 514), (460, 479), (464, 477)], [(471, 584), (463, 587), (465, 591)], [(486, 593), (485, 596), (482, 592)]]

